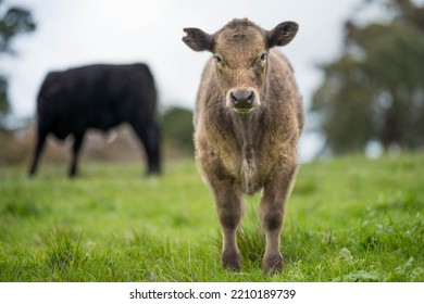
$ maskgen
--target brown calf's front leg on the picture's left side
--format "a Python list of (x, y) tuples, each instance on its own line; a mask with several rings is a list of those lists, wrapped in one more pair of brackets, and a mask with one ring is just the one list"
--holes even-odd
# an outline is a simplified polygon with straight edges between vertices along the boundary
[(241, 257), (237, 246), (237, 226), (244, 215), (241, 194), (230, 180), (211, 182), (216, 212), (222, 227), (223, 248), (221, 262), (224, 268), (240, 270)]

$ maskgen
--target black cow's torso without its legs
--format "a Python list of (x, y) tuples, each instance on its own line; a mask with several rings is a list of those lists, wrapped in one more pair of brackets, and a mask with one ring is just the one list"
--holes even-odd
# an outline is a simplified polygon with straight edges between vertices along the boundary
[(108, 130), (154, 116), (155, 87), (145, 64), (96, 64), (49, 73), (38, 94), (38, 121), (59, 138)]

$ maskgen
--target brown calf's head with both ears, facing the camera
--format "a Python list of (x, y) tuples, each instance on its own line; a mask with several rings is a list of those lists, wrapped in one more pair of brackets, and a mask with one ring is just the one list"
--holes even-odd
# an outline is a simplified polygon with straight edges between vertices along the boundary
[(261, 105), (269, 50), (290, 42), (297, 30), (294, 22), (265, 30), (245, 18), (229, 22), (215, 34), (184, 28), (183, 41), (195, 51), (212, 52), (226, 106), (248, 113)]

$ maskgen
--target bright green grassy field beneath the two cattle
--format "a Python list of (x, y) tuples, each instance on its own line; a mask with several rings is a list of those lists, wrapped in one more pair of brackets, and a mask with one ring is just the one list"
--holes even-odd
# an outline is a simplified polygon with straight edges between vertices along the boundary
[(284, 271), (260, 268), (259, 195), (247, 198), (242, 270), (191, 161), (160, 178), (139, 164), (0, 168), (0, 281), (424, 281), (424, 155), (300, 167), (282, 236)]

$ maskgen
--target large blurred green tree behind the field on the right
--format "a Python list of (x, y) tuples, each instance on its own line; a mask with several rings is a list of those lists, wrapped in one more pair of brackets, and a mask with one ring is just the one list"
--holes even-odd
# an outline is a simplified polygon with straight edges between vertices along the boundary
[(370, 140), (384, 149), (424, 147), (424, 8), (409, 0), (385, 4), (396, 16), (364, 27), (348, 21), (345, 49), (315, 91), (312, 111), (334, 153), (363, 151)]

